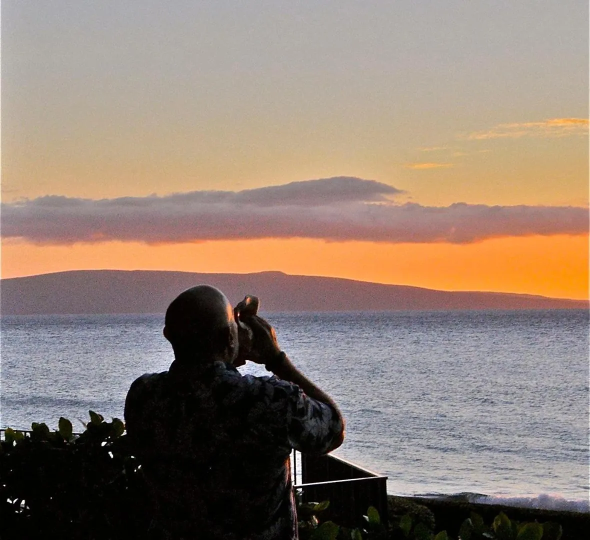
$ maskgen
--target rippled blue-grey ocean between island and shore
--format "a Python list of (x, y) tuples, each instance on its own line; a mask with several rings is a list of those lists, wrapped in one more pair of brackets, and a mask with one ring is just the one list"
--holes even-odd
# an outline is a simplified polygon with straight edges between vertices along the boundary
[[(342, 408), (335, 453), (386, 474), (389, 493), (590, 511), (586, 310), (267, 318)], [(162, 315), (3, 316), (0, 427), (123, 418), (133, 379), (173, 359), (162, 326)]]

